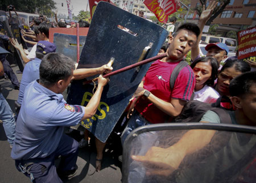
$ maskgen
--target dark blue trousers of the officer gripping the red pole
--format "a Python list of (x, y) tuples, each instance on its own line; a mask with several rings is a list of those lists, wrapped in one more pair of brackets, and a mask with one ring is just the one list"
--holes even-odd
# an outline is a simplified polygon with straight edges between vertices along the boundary
[(15, 160), (16, 168), (30, 177), (32, 182), (63, 182), (56, 171), (55, 157), (61, 156), (59, 172), (76, 168), (79, 144), (68, 135), (63, 134), (59, 146), (51, 155), (41, 159)]

